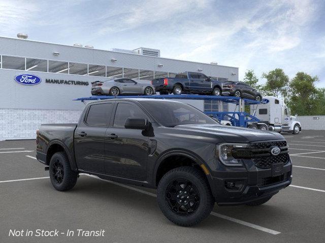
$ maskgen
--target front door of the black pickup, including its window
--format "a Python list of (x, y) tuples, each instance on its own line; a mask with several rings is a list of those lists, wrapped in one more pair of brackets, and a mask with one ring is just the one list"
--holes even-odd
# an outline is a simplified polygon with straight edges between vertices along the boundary
[(142, 130), (125, 129), (130, 117), (148, 118), (136, 104), (121, 101), (116, 106), (113, 125), (106, 132), (105, 172), (139, 181), (147, 179), (148, 137)]

